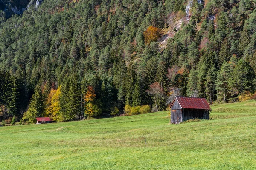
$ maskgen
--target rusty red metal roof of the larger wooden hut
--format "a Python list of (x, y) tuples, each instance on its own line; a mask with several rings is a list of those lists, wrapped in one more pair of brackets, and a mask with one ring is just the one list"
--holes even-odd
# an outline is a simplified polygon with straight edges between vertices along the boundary
[[(185, 109), (206, 109), (210, 110), (210, 106), (205, 98), (198, 97), (175, 97), (180, 103), (181, 108)], [(175, 101), (173, 100), (173, 102)], [(172, 102), (172, 104), (173, 104)], [(172, 106), (172, 105), (171, 105)]]

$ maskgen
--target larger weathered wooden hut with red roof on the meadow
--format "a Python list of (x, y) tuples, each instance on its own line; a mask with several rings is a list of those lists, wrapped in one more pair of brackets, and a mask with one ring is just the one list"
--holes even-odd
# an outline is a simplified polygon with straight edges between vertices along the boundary
[(171, 108), (171, 123), (177, 124), (189, 119), (209, 119), (211, 108), (205, 98), (175, 97)]

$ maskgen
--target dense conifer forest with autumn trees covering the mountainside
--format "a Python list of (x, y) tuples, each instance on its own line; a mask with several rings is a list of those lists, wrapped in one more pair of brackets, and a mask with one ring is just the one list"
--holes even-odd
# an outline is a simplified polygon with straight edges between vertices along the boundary
[[(22, 7), (24, 4), (21, 4)], [(256, 98), (255, 0), (44, 0), (0, 11), (0, 120)]]

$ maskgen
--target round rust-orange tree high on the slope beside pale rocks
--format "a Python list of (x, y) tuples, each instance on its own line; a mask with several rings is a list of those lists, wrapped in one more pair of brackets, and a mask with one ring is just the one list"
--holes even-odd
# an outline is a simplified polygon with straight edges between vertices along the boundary
[(161, 35), (160, 29), (153, 26), (148, 27), (148, 29), (143, 34), (145, 37), (145, 44), (150, 44), (151, 42), (157, 41)]

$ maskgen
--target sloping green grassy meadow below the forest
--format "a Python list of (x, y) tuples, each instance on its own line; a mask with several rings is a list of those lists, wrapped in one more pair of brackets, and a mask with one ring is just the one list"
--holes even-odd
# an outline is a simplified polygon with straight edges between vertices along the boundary
[(179, 125), (166, 111), (0, 127), (0, 170), (256, 169), (256, 102), (212, 109)]

